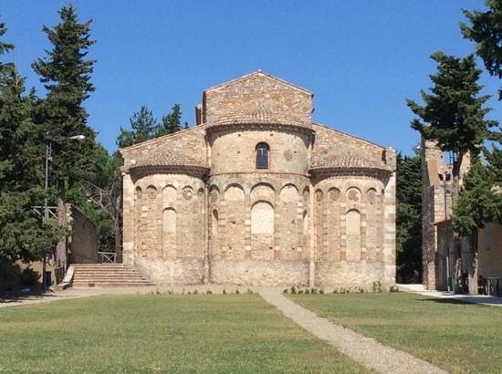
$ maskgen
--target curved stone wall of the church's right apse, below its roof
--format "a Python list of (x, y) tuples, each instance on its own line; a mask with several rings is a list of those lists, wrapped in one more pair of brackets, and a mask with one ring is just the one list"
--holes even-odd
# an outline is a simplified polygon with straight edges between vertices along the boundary
[(393, 265), (393, 258), (386, 254), (384, 235), (384, 215), (389, 212), (385, 189), (391, 182), (383, 175), (337, 175), (316, 184), (316, 284), (368, 286), (376, 280), (393, 284), (385, 274), (385, 265)]

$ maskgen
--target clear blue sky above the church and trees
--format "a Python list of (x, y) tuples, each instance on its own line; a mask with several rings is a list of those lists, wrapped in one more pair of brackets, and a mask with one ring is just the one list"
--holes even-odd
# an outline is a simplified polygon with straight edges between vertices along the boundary
[[(42, 25), (58, 23), (68, 1), (0, 0), (6, 41), (26, 86), (43, 87), (31, 69), (50, 48)], [(80, 20), (92, 19), (98, 43), (96, 87), (85, 105), (89, 125), (109, 151), (120, 126), (142, 104), (160, 119), (174, 103), (183, 121), (204, 88), (262, 69), (315, 93), (314, 120), (384, 146), (411, 153), (419, 142), (410, 129), (405, 98), (420, 100), (430, 87), (441, 49), (465, 56), (474, 45), (458, 23), (461, 8), (483, 9), (481, 0), (74, 0)], [(481, 63), (479, 63), (481, 66)], [(500, 81), (484, 74), (484, 92)], [(502, 121), (494, 98), (490, 118)]]

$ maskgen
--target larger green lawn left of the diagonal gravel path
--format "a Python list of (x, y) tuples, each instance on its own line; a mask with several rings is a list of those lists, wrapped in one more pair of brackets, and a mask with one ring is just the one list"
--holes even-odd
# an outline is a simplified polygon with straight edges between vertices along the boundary
[(257, 295), (95, 296), (0, 309), (0, 371), (363, 372)]

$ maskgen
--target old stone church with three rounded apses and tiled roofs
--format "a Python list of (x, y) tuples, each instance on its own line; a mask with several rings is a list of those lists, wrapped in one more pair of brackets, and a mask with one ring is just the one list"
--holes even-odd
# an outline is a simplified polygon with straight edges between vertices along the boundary
[(312, 99), (257, 71), (120, 150), (123, 262), (164, 285), (392, 285), (396, 153), (314, 123)]

